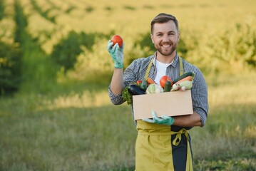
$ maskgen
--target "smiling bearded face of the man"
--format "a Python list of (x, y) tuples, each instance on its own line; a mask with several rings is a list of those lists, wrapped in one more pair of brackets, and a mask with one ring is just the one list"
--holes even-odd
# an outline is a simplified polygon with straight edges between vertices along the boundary
[(170, 56), (175, 52), (180, 37), (173, 21), (154, 24), (153, 33), (150, 36), (155, 49), (163, 56)]

